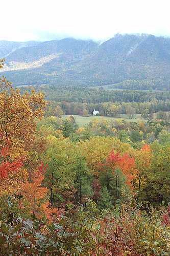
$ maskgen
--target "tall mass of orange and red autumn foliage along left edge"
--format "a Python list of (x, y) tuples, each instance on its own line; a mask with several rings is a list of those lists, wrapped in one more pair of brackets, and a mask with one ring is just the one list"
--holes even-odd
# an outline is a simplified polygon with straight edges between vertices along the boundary
[[(19, 214), (51, 218), (55, 210), (48, 203), (48, 189), (42, 186), (43, 165), (28, 175), (26, 169), (32, 152), (41, 152), (41, 139), (36, 139), (35, 119), (43, 115), (45, 108), (42, 93), (20, 94), (5, 77), (0, 78), (0, 189), (1, 211), (12, 205), (11, 214), (20, 206)], [(31, 153), (31, 154), (30, 154)], [(3, 208), (4, 207), (4, 208)], [(7, 207), (6, 207), (7, 208)], [(7, 211), (7, 210), (6, 210)]]

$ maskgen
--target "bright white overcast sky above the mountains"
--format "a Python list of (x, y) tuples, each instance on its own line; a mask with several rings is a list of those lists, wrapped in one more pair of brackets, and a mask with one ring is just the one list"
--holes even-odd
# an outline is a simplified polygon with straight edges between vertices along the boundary
[(170, 36), (169, 0), (0, 0), (0, 40)]

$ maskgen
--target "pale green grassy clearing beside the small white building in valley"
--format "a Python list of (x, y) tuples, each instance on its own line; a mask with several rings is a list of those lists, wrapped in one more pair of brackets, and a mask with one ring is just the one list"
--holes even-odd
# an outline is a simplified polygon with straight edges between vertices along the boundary
[[(90, 121), (95, 120), (95, 119), (107, 119), (107, 120), (126, 120), (127, 122), (139, 122), (139, 121), (144, 121), (144, 119), (141, 119), (140, 115), (135, 115), (135, 119), (129, 119), (127, 115), (120, 115), (120, 117), (106, 117), (106, 116), (78, 116), (78, 115), (73, 115), (77, 124), (79, 126), (83, 126), (88, 124)], [(69, 115), (64, 116), (65, 118), (69, 117)]]

